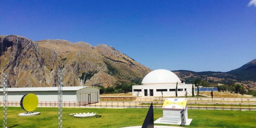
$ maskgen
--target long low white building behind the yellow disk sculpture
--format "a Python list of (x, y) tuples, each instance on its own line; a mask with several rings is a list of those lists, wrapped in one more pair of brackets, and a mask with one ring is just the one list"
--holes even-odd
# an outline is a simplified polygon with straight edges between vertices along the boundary
[[(0, 101), (3, 101), (3, 88), (0, 89)], [(33, 93), (38, 101), (58, 101), (58, 87), (24, 87), (8, 88), (8, 101), (20, 101), (23, 95)], [(94, 86), (62, 87), (62, 101), (74, 102), (80, 105), (97, 103), (100, 100), (100, 90)]]

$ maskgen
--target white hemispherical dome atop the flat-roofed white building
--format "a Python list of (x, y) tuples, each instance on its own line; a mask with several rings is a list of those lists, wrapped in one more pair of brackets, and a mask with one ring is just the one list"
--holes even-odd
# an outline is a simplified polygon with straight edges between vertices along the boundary
[(148, 73), (142, 80), (142, 85), (181, 84), (177, 75), (165, 69), (157, 69)]

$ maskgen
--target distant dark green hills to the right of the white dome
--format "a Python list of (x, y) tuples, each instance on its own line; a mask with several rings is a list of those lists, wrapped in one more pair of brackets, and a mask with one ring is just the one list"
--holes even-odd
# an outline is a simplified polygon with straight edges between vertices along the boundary
[(197, 77), (209, 83), (231, 84), (232, 82), (247, 85), (249, 88), (256, 89), (256, 59), (246, 63), (238, 69), (228, 72), (194, 72), (187, 70), (173, 71), (177, 76), (185, 79), (186, 83), (191, 83)]

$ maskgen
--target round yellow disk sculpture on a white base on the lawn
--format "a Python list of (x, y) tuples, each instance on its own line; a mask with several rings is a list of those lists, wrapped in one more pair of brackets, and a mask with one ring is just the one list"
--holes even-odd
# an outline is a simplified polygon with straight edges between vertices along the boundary
[(20, 100), (20, 106), (27, 112), (32, 112), (37, 108), (38, 98), (35, 94), (25, 94)]

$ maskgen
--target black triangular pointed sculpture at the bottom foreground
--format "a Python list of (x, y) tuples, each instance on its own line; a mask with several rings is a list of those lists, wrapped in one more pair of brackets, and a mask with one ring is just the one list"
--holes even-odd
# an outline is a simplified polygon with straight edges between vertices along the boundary
[(146, 118), (141, 128), (154, 128), (154, 110), (151, 102), (150, 109), (147, 111)]

